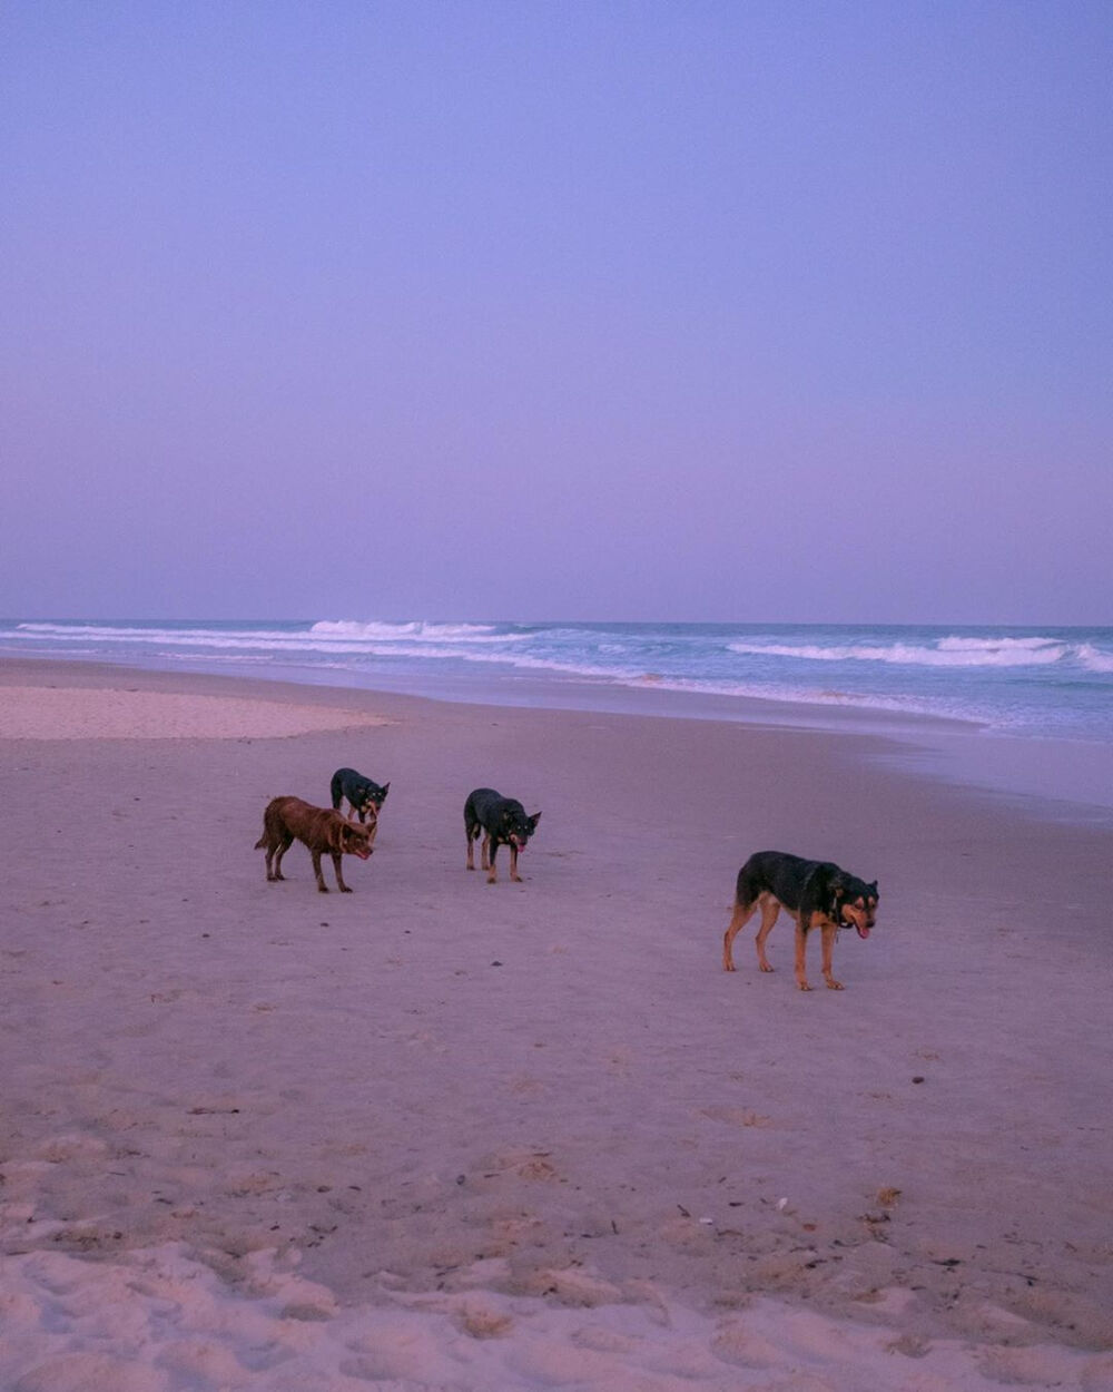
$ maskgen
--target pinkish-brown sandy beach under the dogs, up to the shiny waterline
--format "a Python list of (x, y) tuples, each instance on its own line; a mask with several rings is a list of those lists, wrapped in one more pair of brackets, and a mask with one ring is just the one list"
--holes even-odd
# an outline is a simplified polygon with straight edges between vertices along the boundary
[[(0, 664), (0, 1388), (1113, 1388), (1113, 835), (876, 748)], [(844, 991), (721, 970), (769, 846), (881, 881)]]

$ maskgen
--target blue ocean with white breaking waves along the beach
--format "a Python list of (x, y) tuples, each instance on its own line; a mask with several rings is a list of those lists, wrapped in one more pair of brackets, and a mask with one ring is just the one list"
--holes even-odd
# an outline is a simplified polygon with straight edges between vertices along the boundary
[(871, 713), (1113, 745), (1113, 628), (0, 621), (0, 651), (495, 704)]

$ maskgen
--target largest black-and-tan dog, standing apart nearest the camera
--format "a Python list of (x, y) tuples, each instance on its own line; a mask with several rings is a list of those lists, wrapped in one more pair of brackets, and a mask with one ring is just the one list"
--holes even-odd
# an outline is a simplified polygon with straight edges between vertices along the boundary
[(803, 860), (785, 851), (760, 851), (739, 870), (735, 915), (722, 940), (722, 969), (733, 972), (730, 945), (761, 906), (757, 930), (757, 965), (772, 972), (765, 956), (765, 940), (780, 909), (796, 917), (796, 984), (810, 991), (804, 970), (808, 933), (822, 934), (824, 980), (832, 991), (842, 991), (842, 981), (832, 976), (831, 955), (839, 928), (854, 926), (860, 938), (868, 938), (876, 922), (878, 884), (867, 884), (840, 870), (831, 860)]

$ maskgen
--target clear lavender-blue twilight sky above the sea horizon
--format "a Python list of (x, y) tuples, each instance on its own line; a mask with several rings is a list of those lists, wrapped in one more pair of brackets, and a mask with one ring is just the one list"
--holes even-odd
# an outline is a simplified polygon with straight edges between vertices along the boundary
[(4, 0), (0, 614), (1110, 624), (1107, 0)]

